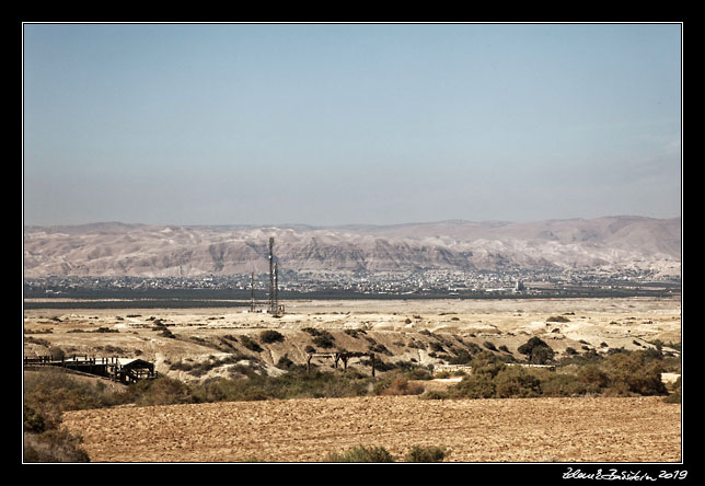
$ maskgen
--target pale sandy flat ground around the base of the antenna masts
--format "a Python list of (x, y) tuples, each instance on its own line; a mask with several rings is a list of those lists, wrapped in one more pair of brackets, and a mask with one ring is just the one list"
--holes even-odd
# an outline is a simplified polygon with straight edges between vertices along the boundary
[[(286, 315), (275, 319), (244, 313), (242, 308), (82, 310), (77, 302), (72, 310), (25, 310), (24, 329), (68, 352), (100, 355), (100, 346), (111, 345), (118, 354), (139, 352), (151, 360), (158, 360), (158, 355), (169, 358), (212, 352), (193, 343), (169, 342), (150, 333), (157, 320), (167, 324), (174, 334), (196, 338), (263, 328), (403, 334), (430, 331), (472, 335), (481, 345), (489, 340), (516, 351), (530, 336), (542, 336), (559, 354), (568, 347), (581, 350), (582, 346), (598, 350), (638, 349), (656, 339), (681, 343), (682, 337), (678, 299), (352, 300), (286, 304)], [(563, 322), (555, 322), (555, 317)], [(100, 327), (116, 333), (92, 332)], [(24, 349), (25, 356), (47, 352), (46, 347), (32, 343), (25, 343)]]

